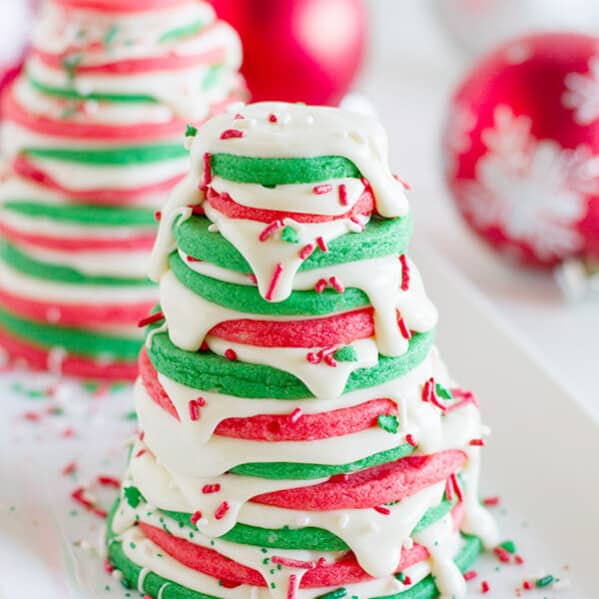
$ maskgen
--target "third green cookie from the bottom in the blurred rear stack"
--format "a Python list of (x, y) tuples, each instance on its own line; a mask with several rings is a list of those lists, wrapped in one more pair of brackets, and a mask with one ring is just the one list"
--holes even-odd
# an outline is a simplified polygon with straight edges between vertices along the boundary
[(2, 208), (28, 216), (89, 227), (154, 227), (154, 211), (147, 208), (46, 204), (33, 200), (5, 200)]

